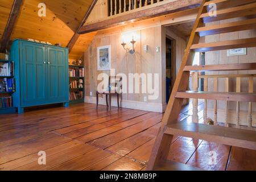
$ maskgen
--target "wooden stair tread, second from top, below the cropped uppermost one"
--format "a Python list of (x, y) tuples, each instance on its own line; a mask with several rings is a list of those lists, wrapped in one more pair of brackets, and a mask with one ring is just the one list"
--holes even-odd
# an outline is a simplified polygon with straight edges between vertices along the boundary
[(237, 18), (247, 15), (256, 14), (256, 3), (250, 3), (248, 5), (230, 7), (228, 9), (218, 10), (217, 16), (210, 16), (209, 13), (201, 14), (200, 18), (203, 18), (204, 23), (215, 22), (223, 19)]

